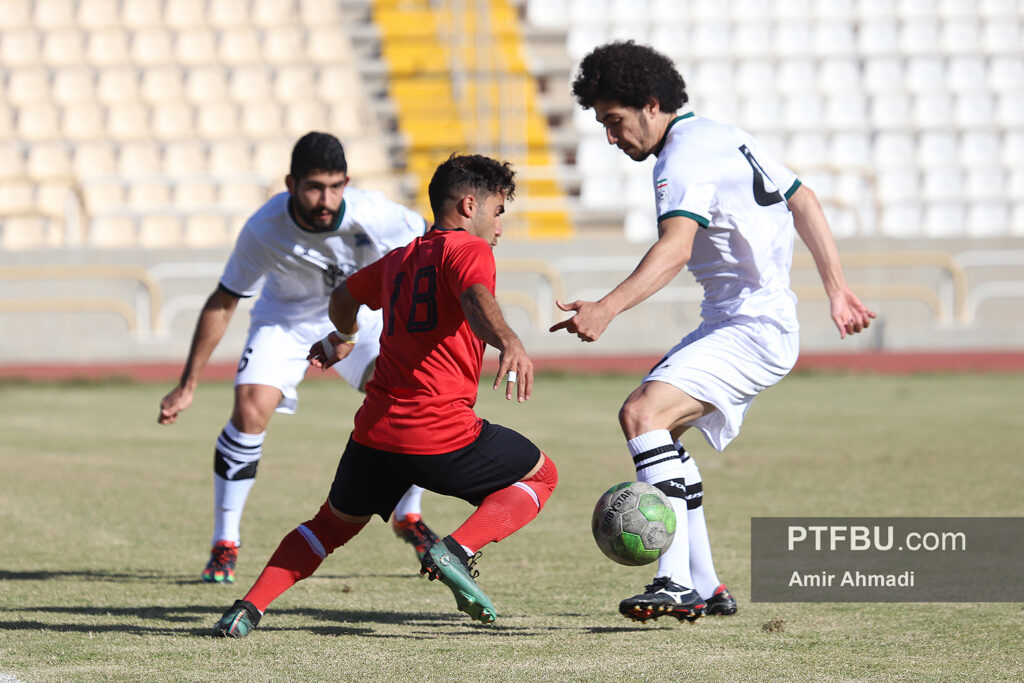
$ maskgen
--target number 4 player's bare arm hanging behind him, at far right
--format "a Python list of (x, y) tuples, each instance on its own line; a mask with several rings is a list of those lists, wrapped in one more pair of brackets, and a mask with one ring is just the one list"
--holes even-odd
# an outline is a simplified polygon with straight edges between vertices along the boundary
[(818, 198), (810, 187), (801, 185), (790, 198), (790, 210), (797, 233), (814, 257), (840, 338), (866, 330), (876, 313), (846, 284), (839, 250)]

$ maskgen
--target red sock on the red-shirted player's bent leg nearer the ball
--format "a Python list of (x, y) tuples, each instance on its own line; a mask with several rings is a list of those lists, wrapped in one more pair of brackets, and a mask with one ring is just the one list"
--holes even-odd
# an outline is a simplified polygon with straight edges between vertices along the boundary
[(534, 476), (487, 496), (452, 538), (468, 548), (470, 554), (488, 543), (508, 538), (538, 515), (557, 483), (558, 470), (544, 456), (544, 465)]

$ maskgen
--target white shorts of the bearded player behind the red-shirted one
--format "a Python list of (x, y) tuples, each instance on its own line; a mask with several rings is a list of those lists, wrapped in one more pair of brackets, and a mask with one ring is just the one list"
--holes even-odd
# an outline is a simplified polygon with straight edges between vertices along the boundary
[[(383, 328), (381, 311), (359, 307), (356, 315), (359, 340), (340, 362), (332, 366), (353, 388), (358, 389), (370, 365), (380, 355)], [(330, 322), (303, 323), (290, 327), (253, 323), (249, 339), (239, 360), (234, 386), (263, 384), (281, 389), (284, 394), (278, 413), (295, 413), (299, 402), (296, 387), (309, 369), (309, 347), (334, 330)]]

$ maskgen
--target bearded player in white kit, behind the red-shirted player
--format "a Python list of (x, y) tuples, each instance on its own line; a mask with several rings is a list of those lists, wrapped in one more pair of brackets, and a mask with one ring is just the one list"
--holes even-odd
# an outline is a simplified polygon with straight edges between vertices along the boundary
[[(341, 142), (310, 132), (292, 150), (287, 193), (267, 201), (239, 233), (216, 290), (207, 299), (181, 379), (160, 401), (160, 424), (189, 407), (200, 375), (224, 335), (239, 300), (259, 293), (234, 376), (234, 407), (214, 449), (214, 524), (207, 583), (234, 583), (240, 525), (255, 481), (270, 416), (295, 413), (296, 387), (308, 369), (309, 346), (334, 330), (328, 302), (334, 288), (426, 229), (419, 214), (379, 193), (347, 187)], [(380, 351), (380, 311), (358, 314), (360, 334), (334, 370), (362, 390)], [(414, 486), (395, 510), (392, 528), (422, 556), (436, 536), (423, 523)]]

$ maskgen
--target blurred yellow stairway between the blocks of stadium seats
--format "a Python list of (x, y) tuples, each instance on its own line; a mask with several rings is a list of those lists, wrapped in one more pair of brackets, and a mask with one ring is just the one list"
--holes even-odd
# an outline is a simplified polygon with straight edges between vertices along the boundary
[(374, 20), (409, 170), (419, 178), (417, 208), (430, 215), (427, 184), (449, 155), (485, 154), (517, 172), (508, 234), (571, 237), (537, 83), (507, 0), (375, 0)]

